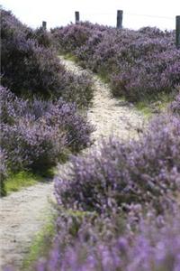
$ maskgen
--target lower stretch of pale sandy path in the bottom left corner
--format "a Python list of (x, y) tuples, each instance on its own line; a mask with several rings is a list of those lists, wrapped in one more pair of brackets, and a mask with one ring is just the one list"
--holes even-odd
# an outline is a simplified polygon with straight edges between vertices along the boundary
[(53, 184), (39, 183), (0, 199), (0, 263), (19, 270), (31, 240), (46, 224)]

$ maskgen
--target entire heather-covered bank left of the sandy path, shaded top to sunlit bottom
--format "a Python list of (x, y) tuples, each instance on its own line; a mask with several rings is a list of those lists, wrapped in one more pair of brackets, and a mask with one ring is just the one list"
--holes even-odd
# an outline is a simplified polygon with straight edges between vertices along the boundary
[(20, 171), (44, 172), (90, 144), (92, 126), (79, 109), (93, 97), (87, 75), (68, 72), (49, 33), (33, 32), (2, 11), (1, 193)]

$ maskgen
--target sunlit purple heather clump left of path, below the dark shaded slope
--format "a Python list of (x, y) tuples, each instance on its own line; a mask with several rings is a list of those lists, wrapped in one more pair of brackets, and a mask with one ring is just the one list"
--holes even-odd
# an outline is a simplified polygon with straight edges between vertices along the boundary
[(77, 152), (91, 143), (90, 126), (75, 104), (16, 98), (0, 88), (1, 145), (8, 168), (48, 169), (63, 159), (67, 149)]

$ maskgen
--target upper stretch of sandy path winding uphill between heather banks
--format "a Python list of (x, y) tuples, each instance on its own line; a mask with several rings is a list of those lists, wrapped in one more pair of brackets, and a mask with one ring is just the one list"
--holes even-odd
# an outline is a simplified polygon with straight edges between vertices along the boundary
[[(73, 61), (59, 58), (67, 70), (77, 74), (84, 72)], [(87, 112), (87, 118), (96, 128), (93, 133), (96, 144), (98, 139), (109, 135), (117, 135), (125, 140), (137, 136), (137, 128), (144, 126), (144, 118), (138, 110), (128, 102), (112, 98), (108, 84), (104, 84), (91, 71), (85, 72), (90, 72), (94, 80), (93, 107)]]

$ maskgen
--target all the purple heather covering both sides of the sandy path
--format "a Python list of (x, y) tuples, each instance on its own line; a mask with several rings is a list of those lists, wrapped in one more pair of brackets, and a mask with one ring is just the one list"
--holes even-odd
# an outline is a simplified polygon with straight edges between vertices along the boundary
[[(56, 232), (37, 271), (180, 270), (180, 51), (175, 33), (92, 23), (32, 31), (2, 13), (1, 179), (64, 162), (55, 178)], [(99, 74), (130, 102), (174, 97), (139, 139), (110, 137), (84, 155), (92, 79), (70, 74), (58, 54)], [(11, 90), (9, 90), (11, 89)], [(81, 113), (80, 113), (81, 112)], [(121, 128), (121, 127), (120, 127)]]

